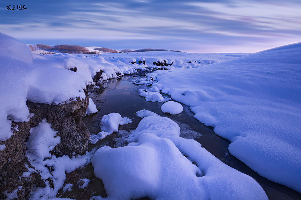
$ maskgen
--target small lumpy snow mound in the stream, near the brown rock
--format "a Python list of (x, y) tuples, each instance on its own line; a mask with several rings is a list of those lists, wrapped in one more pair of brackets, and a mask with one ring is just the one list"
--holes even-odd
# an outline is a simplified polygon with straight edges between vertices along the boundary
[(124, 117), (122, 118), (119, 113), (112, 112), (104, 115), (101, 118), (101, 132), (97, 135), (90, 136), (89, 143), (95, 144), (98, 140), (104, 139), (106, 136), (111, 135), (113, 132), (118, 132), (118, 126), (132, 123), (132, 120)]

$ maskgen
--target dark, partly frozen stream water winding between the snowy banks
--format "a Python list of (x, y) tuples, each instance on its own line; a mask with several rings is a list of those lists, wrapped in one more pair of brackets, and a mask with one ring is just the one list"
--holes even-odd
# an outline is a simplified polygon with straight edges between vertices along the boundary
[[(143, 75), (137, 76), (139, 78)], [(95, 145), (88, 145), (88, 151), (98, 149), (104, 145), (109, 145), (112, 148), (127, 145), (125, 138), (130, 134), (131, 130), (135, 130), (141, 121), (141, 118), (137, 117), (135, 112), (141, 109), (147, 109), (158, 115), (172, 119), (180, 126), (182, 137), (195, 139), (202, 147), (206, 148), (207, 151), (228, 166), (253, 177), (265, 190), (269, 199), (301, 199), (300, 193), (261, 177), (240, 160), (232, 156), (228, 151), (230, 142), (216, 135), (212, 127), (207, 127), (193, 118), (194, 114), (188, 106), (183, 105), (184, 111), (179, 115), (169, 115), (161, 112), (160, 107), (163, 103), (145, 101), (144, 97), (139, 96), (138, 89), (147, 88), (147, 86), (134, 85), (131, 82), (131, 80), (137, 78), (137, 76), (124, 76), (111, 79), (104, 83), (97, 84), (99, 88), (92, 86), (88, 89), (90, 98), (92, 98), (99, 110), (97, 114), (83, 118), (91, 134), (97, 134), (101, 131), (101, 118), (111, 112), (117, 112), (122, 117), (131, 118), (133, 121), (130, 124), (119, 126), (118, 133), (107, 136), (103, 140), (98, 141)], [(95, 190), (97, 190), (97, 188), (100, 190), (97, 192), (90, 191), (90, 195), (106, 197), (102, 182), (94, 176), (91, 164), (86, 166), (83, 170), (86, 170), (85, 176), (90, 177), (89, 179), (92, 180), (90, 183), (97, 185)], [(76, 176), (74, 174), (77, 175), (80, 173), (81, 172), (70, 173), (71, 175), (67, 175), (65, 183), (75, 180)], [(76, 191), (67, 196), (63, 195), (62, 197), (72, 198), (72, 196), (76, 196)]]

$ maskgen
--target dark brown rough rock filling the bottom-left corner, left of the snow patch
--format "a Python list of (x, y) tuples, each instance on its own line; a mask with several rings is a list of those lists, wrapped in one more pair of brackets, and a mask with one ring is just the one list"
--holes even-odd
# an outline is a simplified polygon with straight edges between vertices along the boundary
[(25, 141), (29, 136), (30, 121), (12, 122), (12, 127), (16, 130), (12, 129), (11, 138), (1, 142), (5, 144), (5, 149), (0, 151), (0, 199), (7, 198), (2, 192), (11, 193), (18, 187), (18, 199), (28, 199), (34, 186), (45, 187), (45, 184), (41, 175), (36, 172), (31, 173), (29, 177), (22, 177), (23, 172), (28, 172), (27, 167), (34, 169), (25, 156)]

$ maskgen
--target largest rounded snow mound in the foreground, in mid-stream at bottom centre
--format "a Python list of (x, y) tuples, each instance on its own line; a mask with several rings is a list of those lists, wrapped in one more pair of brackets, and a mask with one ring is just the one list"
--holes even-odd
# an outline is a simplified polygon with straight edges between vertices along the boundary
[(144, 113), (149, 116), (129, 145), (104, 146), (92, 157), (108, 199), (268, 199), (253, 178), (225, 165), (198, 142), (179, 137), (175, 122)]

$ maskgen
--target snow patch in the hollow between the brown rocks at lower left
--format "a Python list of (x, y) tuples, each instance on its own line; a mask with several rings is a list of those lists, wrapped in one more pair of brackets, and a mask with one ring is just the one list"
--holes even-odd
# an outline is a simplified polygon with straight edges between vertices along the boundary
[[(91, 153), (87, 155), (69, 158), (68, 156), (55, 157), (50, 152), (54, 146), (60, 143), (60, 137), (56, 136), (56, 132), (51, 128), (51, 124), (46, 120), (40, 122), (36, 127), (29, 131), (29, 139), (26, 142), (26, 156), (31, 165), (40, 172), (42, 180), (46, 187), (36, 188), (32, 191), (30, 199), (48, 199), (54, 198), (57, 191), (63, 186), (66, 174), (90, 162)], [(29, 169), (31, 172), (32, 169)], [(24, 176), (28, 176), (27, 172), (23, 172)], [(52, 183), (49, 182), (52, 180)], [(53, 185), (53, 187), (51, 187)], [(64, 187), (69, 190), (70, 185)]]

